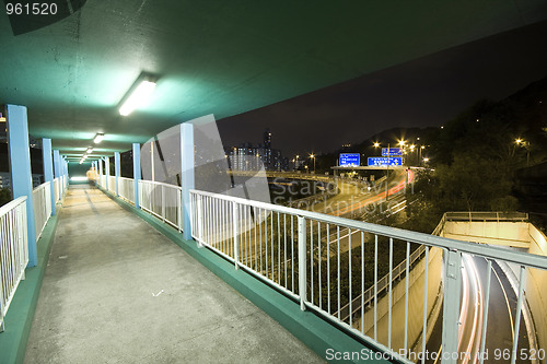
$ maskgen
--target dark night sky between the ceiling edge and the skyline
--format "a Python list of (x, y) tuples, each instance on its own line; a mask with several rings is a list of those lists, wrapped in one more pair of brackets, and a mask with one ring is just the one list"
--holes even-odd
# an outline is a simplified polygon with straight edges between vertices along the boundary
[(218, 121), (224, 145), (261, 142), (286, 156), (330, 152), (394, 127), (441, 126), (480, 98), (547, 75), (547, 22), (487, 37)]

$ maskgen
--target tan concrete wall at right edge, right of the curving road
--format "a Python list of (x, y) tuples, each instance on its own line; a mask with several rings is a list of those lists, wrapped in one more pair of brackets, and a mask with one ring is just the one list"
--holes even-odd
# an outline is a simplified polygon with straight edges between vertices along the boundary
[[(547, 256), (547, 238), (533, 224), (528, 224), (531, 240), (528, 253)], [(538, 348), (547, 348), (547, 270), (527, 269), (524, 292), (534, 319)]]

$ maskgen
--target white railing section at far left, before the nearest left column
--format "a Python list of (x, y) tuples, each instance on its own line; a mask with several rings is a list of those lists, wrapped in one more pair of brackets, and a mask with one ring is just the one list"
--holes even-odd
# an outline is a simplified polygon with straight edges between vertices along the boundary
[(26, 197), (0, 208), (0, 332), (19, 282), (28, 263)]

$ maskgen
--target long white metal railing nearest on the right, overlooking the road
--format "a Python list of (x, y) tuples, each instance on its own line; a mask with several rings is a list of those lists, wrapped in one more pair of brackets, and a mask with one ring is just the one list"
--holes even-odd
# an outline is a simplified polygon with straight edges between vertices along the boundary
[[(486, 259), (487, 284), (485, 289), (479, 290), (480, 305), (476, 306), (477, 317), (480, 319), (477, 327), (473, 327), (473, 330), (477, 331), (473, 334), (474, 339), (469, 339), (475, 340), (469, 355), (477, 361), (485, 352), (492, 261), (500, 260), (520, 267), (516, 306), (520, 308), (524, 297), (526, 270), (547, 270), (547, 257), (225, 195), (191, 190), (190, 210), (193, 237), (199, 244), (234, 262), (236, 269), (243, 268), (278, 287), (300, 302), (302, 309), (317, 312), (325, 319), (345, 327), (364, 341), (405, 362), (410, 361), (406, 355), (399, 355), (401, 352), (409, 353), (414, 349), (426, 352), (428, 327), (434, 324), (431, 322), (432, 318), (428, 312), (428, 306), (433, 304), (431, 297), (428, 298), (428, 274), (442, 274), (443, 352), (458, 353), (461, 348), (465, 347), (458, 336), (462, 272), (466, 279), (470, 275), (461, 267), (469, 255)], [(438, 250), (442, 251), (442, 270), (430, 273), (430, 266), (426, 263), (423, 274), (419, 275), (422, 277), (421, 281), (415, 281), (415, 284), (419, 281), (423, 285), (422, 296), (419, 300), (414, 296), (409, 303), (408, 283), (403, 291), (404, 298), (394, 296), (394, 274), (409, 277), (410, 267), (420, 256), (429, 262), (430, 253), (433, 255)], [(394, 269), (394, 265), (399, 261), (403, 263)], [(385, 284), (379, 280), (383, 275), (386, 277)], [(382, 285), (386, 285), (383, 289), (384, 295), (387, 296), (385, 314), (379, 308)], [(365, 296), (366, 292), (369, 296)], [(356, 297), (360, 297), (360, 302), (356, 301)], [(404, 318), (394, 322), (393, 305), (396, 300), (404, 305)], [(341, 308), (346, 306), (348, 315), (342, 317)], [(414, 339), (409, 336), (409, 315), (421, 315), (420, 339), (417, 342), (412, 342)], [(520, 322), (521, 309), (516, 310), (515, 316), (512, 363), (517, 354), (520, 327), (516, 322)], [(373, 320), (371, 331), (364, 329), (365, 317)], [(379, 319), (386, 322), (379, 325)], [(394, 336), (394, 332), (397, 332), (397, 336)], [(442, 356), (442, 363), (456, 363), (458, 357)], [(422, 355), (421, 362), (424, 361), (426, 355)]]

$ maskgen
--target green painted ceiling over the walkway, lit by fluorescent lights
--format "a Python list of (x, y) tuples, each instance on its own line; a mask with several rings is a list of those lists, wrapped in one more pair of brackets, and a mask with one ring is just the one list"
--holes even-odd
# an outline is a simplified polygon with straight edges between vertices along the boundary
[[(14, 36), (0, 14), (0, 104), (61, 153), (126, 151), (175, 124), (266, 106), (546, 19), (545, 0), (89, 0)], [(148, 106), (117, 106), (142, 72)]]

